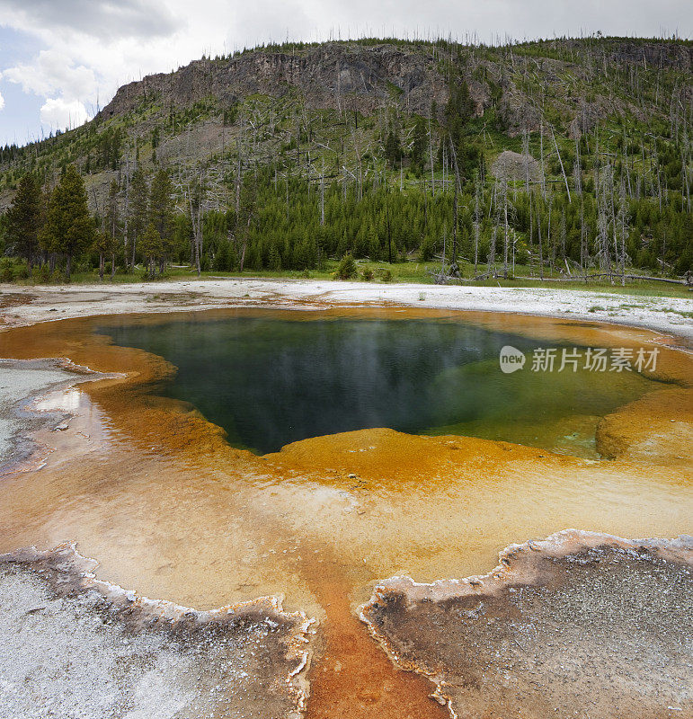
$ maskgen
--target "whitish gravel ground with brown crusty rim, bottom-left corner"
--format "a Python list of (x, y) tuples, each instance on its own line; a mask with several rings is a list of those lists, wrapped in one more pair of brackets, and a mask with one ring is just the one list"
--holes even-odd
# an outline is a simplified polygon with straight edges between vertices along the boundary
[(0, 555), (0, 719), (296, 719), (307, 617), (269, 599), (198, 612), (96, 565), (72, 546)]

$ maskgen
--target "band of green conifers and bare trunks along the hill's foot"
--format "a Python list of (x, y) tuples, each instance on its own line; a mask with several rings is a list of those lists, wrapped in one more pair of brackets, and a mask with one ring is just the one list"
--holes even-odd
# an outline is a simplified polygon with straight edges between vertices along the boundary
[[(149, 278), (169, 263), (198, 271), (314, 270), (350, 253), (376, 262), (467, 262), (475, 274), (511, 274), (514, 262), (546, 270), (639, 267), (683, 274), (693, 267), (693, 226), (680, 191), (665, 198), (630, 193), (625, 171), (592, 166), (582, 183), (546, 184), (456, 173), (438, 187), (397, 183), (385, 173), (369, 185), (316, 183), (275, 168), (246, 173), (237, 202), (209, 206), (203, 173), (176, 191), (168, 173), (136, 170), (127, 187), (111, 182), (101, 215), (91, 214), (84, 178), (67, 167), (56, 186), (22, 177), (2, 218), (5, 252), (31, 274), (67, 278), (80, 266), (135, 271)], [(452, 187), (450, 187), (452, 185)], [(233, 189), (233, 188), (232, 188)], [(570, 196), (569, 196), (570, 193)]]

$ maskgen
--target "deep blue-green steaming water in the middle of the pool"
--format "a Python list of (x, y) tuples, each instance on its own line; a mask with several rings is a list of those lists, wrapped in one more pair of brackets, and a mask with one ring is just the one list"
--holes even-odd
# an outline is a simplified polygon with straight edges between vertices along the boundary
[[(635, 373), (532, 372), (546, 342), (457, 320), (191, 314), (97, 331), (172, 362), (176, 375), (152, 392), (193, 404), (232, 445), (261, 454), (389, 427), (591, 456), (598, 419), (652, 387)], [(503, 345), (526, 353), (524, 369), (501, 372)]]

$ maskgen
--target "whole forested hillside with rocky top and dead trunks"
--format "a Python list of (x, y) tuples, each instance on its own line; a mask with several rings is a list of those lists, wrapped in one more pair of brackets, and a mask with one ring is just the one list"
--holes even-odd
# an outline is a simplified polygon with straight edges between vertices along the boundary
[(466, 278), (681, 277), (692, 69), (689, 41), (600, 37), (202, 58), (0, 150), (4, 279), (310, 271), (347, 253), (445, 253)]

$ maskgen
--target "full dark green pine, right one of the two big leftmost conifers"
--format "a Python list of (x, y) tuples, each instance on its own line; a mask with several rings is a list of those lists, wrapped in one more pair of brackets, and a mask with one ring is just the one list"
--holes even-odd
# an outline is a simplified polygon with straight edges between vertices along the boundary
[(60, 178), (50, 195), (42, 238), (51, 252), (66, 257), (66, 275), (70, 279), (72, 260), (93, 242), (94, 228), (86, 202), (84, 180), (74, 164)]

